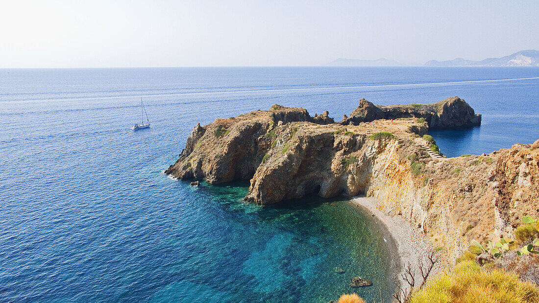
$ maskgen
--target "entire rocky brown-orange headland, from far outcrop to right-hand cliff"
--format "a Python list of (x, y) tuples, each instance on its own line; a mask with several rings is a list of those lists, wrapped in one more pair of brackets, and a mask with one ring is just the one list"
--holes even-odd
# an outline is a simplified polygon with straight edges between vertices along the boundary
[(471, 239), (499, 238), (523, 215), (539, 215), (539, 140), (449, 159), (423, 147), (429, 128), (479, 123), (458, 97), (390, 107), (361, 100), (337, 123), (327, 112), (273, 105), (197, 124), (165, 173), (211, 184), (250, 180), (245, 200), (260, 204), (312, 193), (376, 198), (376, 209), (402, 216), (452, 264)]

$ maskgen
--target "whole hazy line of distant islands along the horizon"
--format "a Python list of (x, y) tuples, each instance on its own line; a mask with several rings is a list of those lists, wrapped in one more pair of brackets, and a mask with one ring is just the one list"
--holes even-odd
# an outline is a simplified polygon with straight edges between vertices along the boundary
[(356, 60), (339, 58), (329, 62), (329, 66), (539, 66), (539, 51), (526, 50), (501, 58), (487, 58), (481, 61), (456, 58), (447, 61), (430, 60), (424, 65), (405, 64), (395, 60)]

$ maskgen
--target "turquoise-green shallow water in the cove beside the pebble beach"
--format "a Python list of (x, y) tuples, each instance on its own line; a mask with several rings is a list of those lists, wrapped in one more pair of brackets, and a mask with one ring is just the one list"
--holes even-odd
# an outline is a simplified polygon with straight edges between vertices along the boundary
[[(260, 207), (238, 202), (245, 189), (193, 189), (208, 196), (225, 220), (215, 218), (219, 228), (208, 224), (201, 231), (211, 236), (192, 244), (204, 251), (192, 260), (196, 281), (168, 285), (150, 301), (325, 302), (351, 291), (348, 283), (357, 275), (376, 285), (356, 290), (365, 298), (388, 293), (388, 246), (348, 201), (312, 196), (290, 207)], [(208, 256), (218, 256), (217, 262)], [(335, 267), (346, 272), (338, 274)]]

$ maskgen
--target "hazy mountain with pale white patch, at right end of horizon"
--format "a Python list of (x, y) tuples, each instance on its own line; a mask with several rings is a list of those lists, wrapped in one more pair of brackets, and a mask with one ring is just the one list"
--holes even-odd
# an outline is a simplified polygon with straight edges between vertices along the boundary
[(539, 51), (520, 51), (506, 57), (487, 58), (481, 61), (462, 58), (447, 61), (430, 60), (425, 66), (539, 66)]

